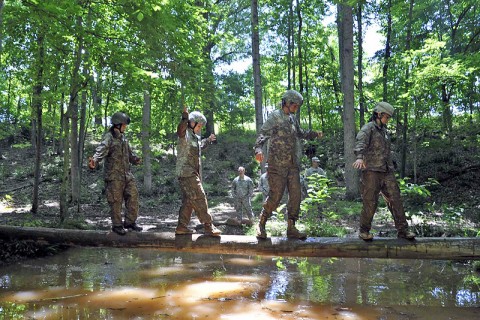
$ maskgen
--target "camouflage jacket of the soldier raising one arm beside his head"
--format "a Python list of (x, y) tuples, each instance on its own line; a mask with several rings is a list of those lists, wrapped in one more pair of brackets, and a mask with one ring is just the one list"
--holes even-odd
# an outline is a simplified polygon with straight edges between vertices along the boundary
[(202, 149), (205, 149), (209, 143), (207, 139), (197, 136), (191, 128), (188, 127), (188, 113), (182, 113), (182, 120), (177, 127), (177, 177), (202, 177)]

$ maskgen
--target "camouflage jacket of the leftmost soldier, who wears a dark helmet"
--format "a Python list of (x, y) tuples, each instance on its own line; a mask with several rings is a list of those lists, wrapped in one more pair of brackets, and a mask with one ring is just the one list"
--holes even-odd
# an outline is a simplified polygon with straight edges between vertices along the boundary
[(105, 160), (105, 180), (133, 179), (130, 164), (137, 164), (140, 158), (133, 153), (125, 135), (119, 131), (110, 130), (98, 145), (93, 155), (96, 163)]

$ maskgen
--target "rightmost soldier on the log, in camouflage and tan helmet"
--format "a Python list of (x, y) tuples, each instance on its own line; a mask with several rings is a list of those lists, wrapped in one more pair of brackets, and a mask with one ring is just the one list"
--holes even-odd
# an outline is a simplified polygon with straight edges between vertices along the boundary
[(365, 241), (373, 239), (370, 229), (380, 193), (393, 215), (398, 238), (409, 240), (415, 238), (415, 234), (408, 231), (405, 210), (400, 198), (400, 188), (395, 179), (391, 157), (391, 143), (386, 125), (393, 116), (393, 112), (394, 109), (389, 103), (377, 103), (370, 122), (365, 124), (357, 134), (354, 149), (357, 160), (353, 163), (353, 167), (362, 170), (363, 209), (360, 217), (359, 237)]

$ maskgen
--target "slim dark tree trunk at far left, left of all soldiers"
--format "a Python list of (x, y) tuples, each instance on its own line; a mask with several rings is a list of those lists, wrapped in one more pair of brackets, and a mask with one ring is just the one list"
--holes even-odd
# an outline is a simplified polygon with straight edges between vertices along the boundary
[(38, 57), (36, 60), (35, 86), (33, 87), (32, 107), (35, 110), (36, 132), (35, 132), (35, 169), (33, 171), (33, 195), (31, 212), (38, 213), (38, 191), (40, 186), (40, 168), (42, 154), (42, 91), (43, 91), (43, 66), (44, 66), (44, 36), (40, 33), (37, 36)]

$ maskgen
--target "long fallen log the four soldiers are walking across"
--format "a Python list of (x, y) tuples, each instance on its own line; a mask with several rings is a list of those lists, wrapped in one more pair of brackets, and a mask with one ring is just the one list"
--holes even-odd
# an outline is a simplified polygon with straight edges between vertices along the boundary
[(258, 240), (254, 236), (202, 234), (175, 236), (171, 232), (129, 232), (119, 236), (110, 231), (0, 226), (0, 238), (43, 241), (69, 246), (158, 248), (212, 254), (241, 254), (283, 257), (344, 257), (390, 259), (480, 260), (480, 238), (307, 238), (282, 237)]

